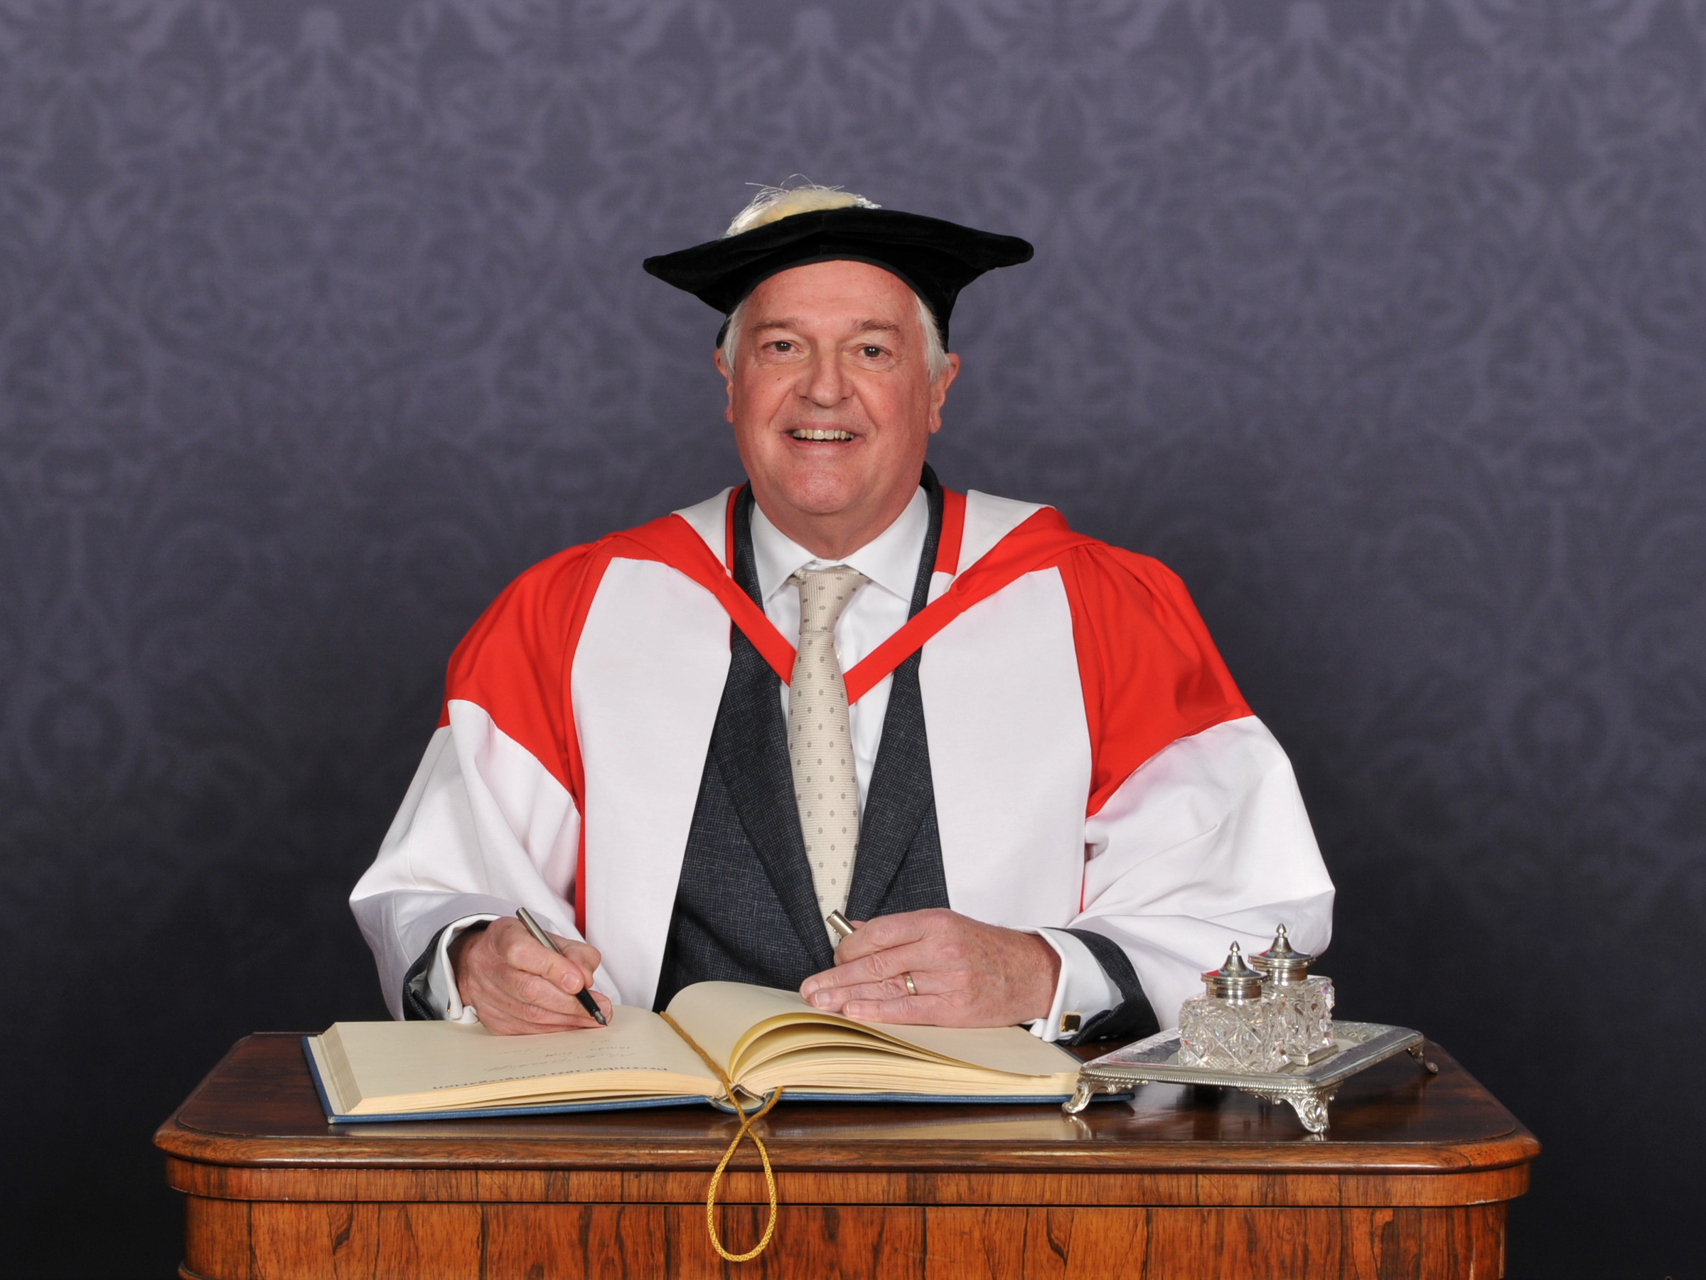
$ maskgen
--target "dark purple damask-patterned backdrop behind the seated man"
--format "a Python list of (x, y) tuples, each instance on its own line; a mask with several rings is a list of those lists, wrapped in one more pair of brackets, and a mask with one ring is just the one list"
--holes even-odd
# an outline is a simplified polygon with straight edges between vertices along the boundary
[(1343, 1009), (1547, 1145), (1510, 1273), (1699, 1275), (1703, 60), (1701, 0), (0, 0), (0, 1270), (171, 1275), (152, 1126), (382, 1015), (450, 647), (739, 474), (638, 263), (804, 172), (1037, 244), (937, 466), (1184, 573)]

